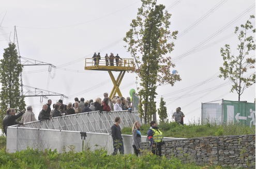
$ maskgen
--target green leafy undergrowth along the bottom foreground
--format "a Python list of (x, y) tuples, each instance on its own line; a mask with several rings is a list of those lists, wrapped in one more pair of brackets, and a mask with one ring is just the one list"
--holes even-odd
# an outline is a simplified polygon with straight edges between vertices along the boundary
[(147, 154), (138, 158), (134, 155), (110, 156), (105, 150), (69, 151), (58, 154), (56, 150), (39, 151), (26, 149), (16, 153), (0, 150), (1, 168), (221, 168), (183, 164), (176, 158), (167, 159)]

